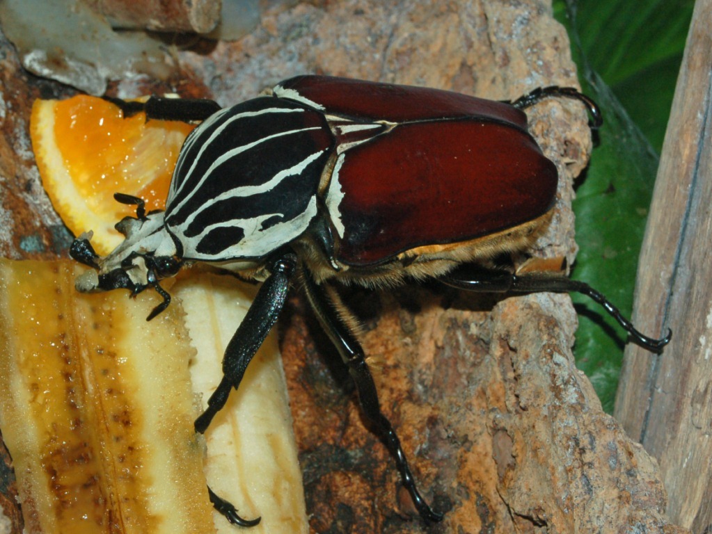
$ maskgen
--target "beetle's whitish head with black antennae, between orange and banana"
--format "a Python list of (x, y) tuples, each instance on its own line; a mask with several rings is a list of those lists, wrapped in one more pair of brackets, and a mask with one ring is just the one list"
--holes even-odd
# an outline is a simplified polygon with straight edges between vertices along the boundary
[(174, 276), (182, 266), (179, 252), (165, 228), (162, 211), (145, 215), (142, 203), (137, 218), (125, 217), (116, 229), (125, 235), (124, 242), (108, 256), (99, 256), (92, 247), (92, 233), (74, 240), (69, 255), (80, 263), (93, 267), (81, 274), (75, 286), (79, 292), (93, 293), (110, 289), (128, 289), (132, 295), (147, 287), (154, 288), (164, 299), (150, 314), (152, 319), (169, 304), (169, 295), (159, 286), (159, 280)]

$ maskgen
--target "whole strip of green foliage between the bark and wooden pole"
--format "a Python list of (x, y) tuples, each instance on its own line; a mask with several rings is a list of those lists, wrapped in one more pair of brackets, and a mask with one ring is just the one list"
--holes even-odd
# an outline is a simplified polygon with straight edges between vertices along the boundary
[[(574, 211), (580, 245), (572, 276), (626, 316), (693, 0), (555, 0), (585, 93), (604, 116)], [(651, 145), (651, 141), (655, 145)], [(654, 148), (655, 146), (655, 148)], [(627, 336), (586, 297), (575, 354), (611, 412)]]

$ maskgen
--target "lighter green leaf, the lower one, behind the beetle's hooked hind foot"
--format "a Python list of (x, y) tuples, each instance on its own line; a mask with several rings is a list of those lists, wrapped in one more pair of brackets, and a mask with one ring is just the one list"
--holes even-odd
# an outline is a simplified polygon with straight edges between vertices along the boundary
[[(574, 201), (580, 251), (572, 274), (629, 317), (658, 157), (607, 87), (593, 94), (606, 122)], [(584, 310), (576, 335), (577, 365), (591, 379), (604, 408), (612, 411), (626, 334), (590, 299), (576, 295), (574, 302)]]

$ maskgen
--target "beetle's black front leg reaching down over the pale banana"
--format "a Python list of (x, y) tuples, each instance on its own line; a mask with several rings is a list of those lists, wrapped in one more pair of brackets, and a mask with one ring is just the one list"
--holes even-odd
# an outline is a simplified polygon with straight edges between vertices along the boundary
[[(291, 251), (275, 255), (268, 262), (267, 269), (270, 276), (263, 282), (245, 319), (225, 349), (222, 363), (223, 378), (213, 394), (210, 395), (208, 407), (195, 420), (196, 432), (205, 433), (215, 415), (225, 406), (231, 390), (237, 389), (240, 385), (247, 366), (262, 346), (282, 311), (295, 268), (296, 256)], [(231, 503), (217, 496), (210, 488), (208, 488), (208, 492), (210, 502), (230, 523), (249, 527), (260, 522), (260, 518), (252, 520), (241, 518)]]

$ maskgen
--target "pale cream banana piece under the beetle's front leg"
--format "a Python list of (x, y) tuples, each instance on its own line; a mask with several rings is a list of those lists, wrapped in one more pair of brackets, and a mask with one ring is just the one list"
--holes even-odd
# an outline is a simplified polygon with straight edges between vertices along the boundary
[[(255, 286), (215, 274), (191, 273), (171, 288), (197, 348), (190, 371), (202, 408), (222, 378), (222, 354), (255, 293)], [(246, 529), (249, 534), (309, 531), (286, 387), (277, 339), (270, 335), (206, 432), (208, 484), (242, 517), (262, 518)], [(218, 533), (235, 534), (234, 526), (214, 515)]]

